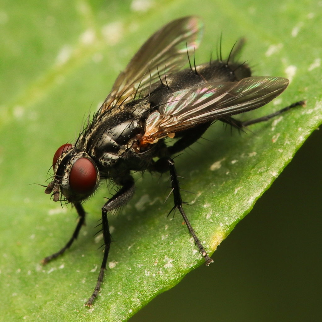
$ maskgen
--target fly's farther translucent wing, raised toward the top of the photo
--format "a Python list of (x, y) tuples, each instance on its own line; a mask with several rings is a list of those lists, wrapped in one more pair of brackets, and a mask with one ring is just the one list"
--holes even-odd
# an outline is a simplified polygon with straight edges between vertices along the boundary
[(137, 93), (148, 95), (159, 85), (158, 71), (168, 76), (181, 69), (187, 62), (187, 51), (191, 54), (198, 48), (202, 33), (203, 24), (195, 16), (173, 20), (159, 29), (118, 75), (99, 114), (135, 99)]

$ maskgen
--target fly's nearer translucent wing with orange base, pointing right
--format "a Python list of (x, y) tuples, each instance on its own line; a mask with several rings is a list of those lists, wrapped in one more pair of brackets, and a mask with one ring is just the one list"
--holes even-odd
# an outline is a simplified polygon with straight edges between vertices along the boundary
[(248, 77), (238, 82), (205, 83), (173, 92), (146, 121), (141, 144), (224, 116), (257, 109), (289, 85), (282, 77)]

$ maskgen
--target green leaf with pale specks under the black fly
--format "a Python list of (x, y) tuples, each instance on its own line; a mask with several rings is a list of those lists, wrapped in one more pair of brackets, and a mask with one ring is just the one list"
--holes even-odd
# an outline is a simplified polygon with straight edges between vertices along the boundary
[[(151, 7), (144, 7), (151, 4)], [(136, 5), (135, 5), (136, 4)], [(141, 4), (141, 7), (139, 6)], [(143, 5), (143, 7), (142, 7)], [(132, 9), (131, 9), (132, 8)], [(141, 11), (135, 11), (141, 9)], [(144, 11), (143, 9), (147, 9)], [(143, 11), (142, 11), (143, 10)], [(197, 63), (207, 61), (223, 31), (223, 52), (247, 38), (242, 60), (255, 75), (292, 78), (273, 103), (242, 115), (256, 118), (300, 99), (297, 108), (239, 135), (214, 124), (201, 144), (175, 159), (186, 212), (210, 253), (322, 122), (321, 7), (306, 1), (3, 2), (0, 7), (0, 285), (5, 321), (123, 321), (203, 264), (182, 218), (167, 214), (168, 176), (135, 175), (137, 192), (109, 215), (109, 268), (92, 309), (83, 307), (102, 260), (101, 188), (85, 204), (87, 226), (62, 257), (45, 267), (75, 227), (76, 212), (43, 188), (56, 149), (74, 140), (113, 81), (147, 37), (166, 22), (198, 14), (205, 23)], [(112, 186), (110, 192), (113, 193)], [(97, 268), (98, 267), (98, 268)]]

